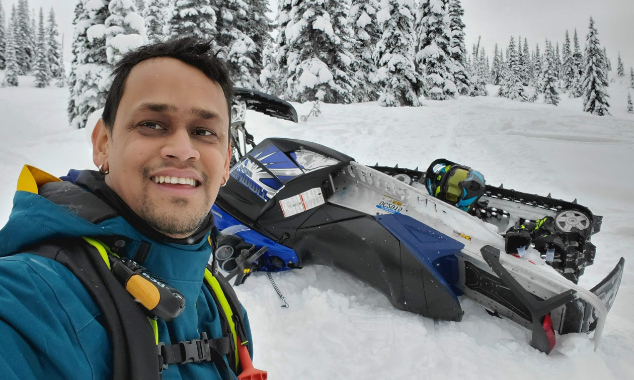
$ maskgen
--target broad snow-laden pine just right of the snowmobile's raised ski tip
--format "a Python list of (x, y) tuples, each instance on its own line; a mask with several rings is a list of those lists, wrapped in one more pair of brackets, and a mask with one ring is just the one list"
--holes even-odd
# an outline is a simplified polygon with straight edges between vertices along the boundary
[(288, 38), (288, 93), (293, 101), (352, 103), (356, 81), (349, 51), (352, 30), (346, 2), (298, 1)]

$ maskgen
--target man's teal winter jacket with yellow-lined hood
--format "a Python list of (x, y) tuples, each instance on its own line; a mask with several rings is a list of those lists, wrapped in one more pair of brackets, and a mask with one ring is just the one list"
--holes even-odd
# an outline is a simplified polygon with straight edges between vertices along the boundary
[[(134, 215), (97, 172), (84, 170), (75, 183), (59, 181), (25, 166), (9, 221), (0, 230), (0, 379), (112, 379), (108, 333), (91, 296), (66, 267), (28, 253), (53, 239), (122, 236), (128, 241), (123, 255), (129, 258), (141, 242), (150, 244), (144, 266), (186, 300), (179, 317), (159, 320), (159, 340), (173, 344), (200, 338), (202, 332), (221, 338), (216, 303), (203, 286), (211, 213), (191, 238), (171, 239)], [(212, 362), (169, 365), (162, 376), (221, 379)]]

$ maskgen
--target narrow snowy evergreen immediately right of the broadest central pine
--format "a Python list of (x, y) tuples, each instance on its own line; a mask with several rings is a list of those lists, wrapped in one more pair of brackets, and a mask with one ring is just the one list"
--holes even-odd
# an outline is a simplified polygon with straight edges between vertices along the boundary
[(377, 65), (372, 57), (381, 37), (377, 23), (378, 2), (376, 0), (352, 0), (349, 23), (353, 29), (353, 49), (355, 57), (353, 72), (359, 84), (356, 98), (359, 101), (378, 99)]

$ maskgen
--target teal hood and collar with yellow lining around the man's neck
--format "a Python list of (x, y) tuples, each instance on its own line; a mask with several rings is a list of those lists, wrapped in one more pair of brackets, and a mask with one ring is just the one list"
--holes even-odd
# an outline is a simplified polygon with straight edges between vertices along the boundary
[[(190, 297), (195, 300), (211, 253), (207, 237), (213, 228), (213, 215), (209, 214), (204, 231), (195, 234), (197, 238), (171, 239), (147, 225), (139, 228), (137, 224), (142, 224), (142, 221), (131, 225), (120, 215), (120, 210), (115, 210), (82, 187), (89, 181), (98, 183), (94, 181), (99, 178), (97, 172), (83, 170), (71, 171), (70, 174), (63, 177), (70, 181), (61, 181), (25, 165), (18, 179), (13, 210), (7, 224), (0, 230), (0, 257), (53, 239), (116, 236), (126, 241), (123, 255), (134, 258), (141, 242), (144, 242), (145, 247), (150, 246), (144, 266), (165, 281), (189, 282), (193, 285), (191, 289), (188, 289), (190, 286), (179, 286), (179, 290), (183, 293), (189, 291)], [(103, 176), (101, 178), (103, 182)], [(101, 186), (107, 187), (105, 183)], [(110, 192), (113, 194), (112, 190)], [(136, 214), (134, 217), (127, 219), (140, 220)], [(150, 232), (153, 236), (148, 236)]]

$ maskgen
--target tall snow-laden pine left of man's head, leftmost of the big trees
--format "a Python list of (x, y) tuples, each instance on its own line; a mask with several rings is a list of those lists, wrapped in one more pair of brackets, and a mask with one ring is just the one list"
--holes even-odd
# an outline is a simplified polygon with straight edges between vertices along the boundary
[(105, 39), (108, 4), (92, 1), (90, 5), (91, 8), (86, 9), (84, 1), (78, 0), (73, 21), (68, 119), (76, 129), (86, 127), (89, 115), (103, 107), (110, 73)]

